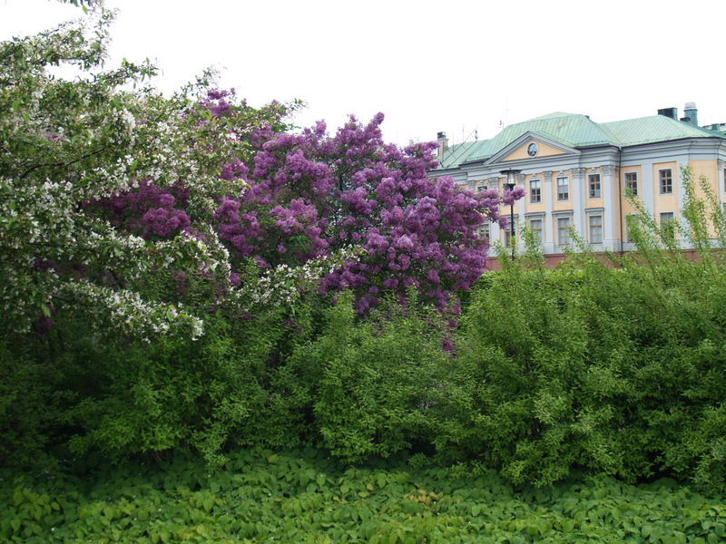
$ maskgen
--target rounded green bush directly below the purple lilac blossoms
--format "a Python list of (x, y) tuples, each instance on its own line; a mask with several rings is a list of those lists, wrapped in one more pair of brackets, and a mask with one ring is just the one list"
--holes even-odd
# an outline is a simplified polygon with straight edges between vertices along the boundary
[(338, 457), (388, 457), (436, 434), (454, 363), (441, 349), (440, 316), (407, 295), (406, 308), (384, 305), (362, 323), (352, 299), (339, 300), (315, 341), (289, 357), (289, 370), (308, 376), (320, 443)]

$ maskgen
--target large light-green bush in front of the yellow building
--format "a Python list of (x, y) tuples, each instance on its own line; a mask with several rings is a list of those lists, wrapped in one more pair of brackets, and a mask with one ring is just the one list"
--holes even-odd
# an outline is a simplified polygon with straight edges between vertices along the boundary
[(696, 258), (642, 210), (639, 252), (611, 256), (615, 267), (584, 252), (556, 270), (525, 259), (487, 275), (459, 342), (469, 409), (442, 452), (513, 481), (546, 484), (579, 466), (724, 488), (726, 274), (686, 184), (681, 228)]

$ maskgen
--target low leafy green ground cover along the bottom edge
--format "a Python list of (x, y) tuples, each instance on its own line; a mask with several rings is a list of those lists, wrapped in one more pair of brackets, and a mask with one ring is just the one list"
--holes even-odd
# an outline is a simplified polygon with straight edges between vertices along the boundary
[(406, 461), (340, 467), (311, 450), (178, 458), (82, 477), (0, 473), (6, 542), (662, 542), (726, 537), (726, 507), (673, 481), (514, 488)]

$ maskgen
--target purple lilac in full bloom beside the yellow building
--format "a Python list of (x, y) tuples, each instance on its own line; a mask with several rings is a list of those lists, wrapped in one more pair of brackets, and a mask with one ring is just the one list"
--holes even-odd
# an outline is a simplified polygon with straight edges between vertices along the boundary
[(230, 160), (221, 170), (249, 187), (221, 198), (213, 218), (220, 238), (262, 268), (362, 246), (362, 256), (329, 271), (322, 292), (353, 290), (364, 313), (384, 293), (404, 296), (415, 286), (445, 308), (484, 272), (478, 228), (485, 220), (505, 227), (499, 205), (524, 191), (472, 192), (451, 178), (432, 179), (436, 143), (400, 149), (383, 141), (382, 121), (381, 113), (367, 125), (351, 117), (334, 137), (322, 121), (299, 135), (256, 131), (253, 162)]

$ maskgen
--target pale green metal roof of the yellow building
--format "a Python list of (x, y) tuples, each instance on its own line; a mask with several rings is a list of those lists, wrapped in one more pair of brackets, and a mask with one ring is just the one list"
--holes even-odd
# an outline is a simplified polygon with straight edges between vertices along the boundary
[(682, 138), (724, 137), (664, 115), (596, 123), (580, 113), (554, 112), (509, 125), (491, 140), (468, 141), (448, 148), (439, 169), (456, 168), (472, 160), (486, 160), (526, 132), (534, 132), (573, 148), (614, 145), (624, 147)]

